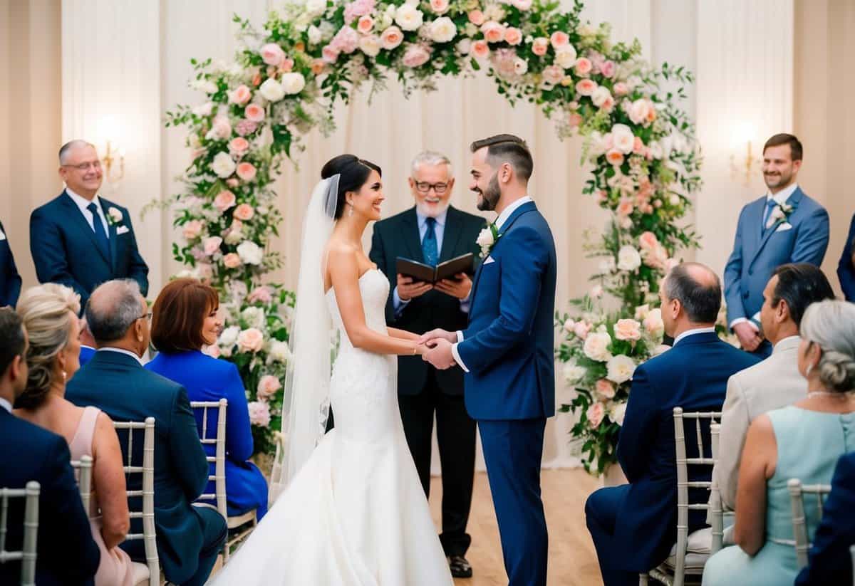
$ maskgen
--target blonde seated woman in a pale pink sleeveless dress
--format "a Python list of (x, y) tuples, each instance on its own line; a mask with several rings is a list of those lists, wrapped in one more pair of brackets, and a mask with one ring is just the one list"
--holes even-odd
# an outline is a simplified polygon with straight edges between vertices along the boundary
[[(125, 471), (113, 422), (96, 407), (77, 407), (65, 398), (66, 382), (77, 372), (80, 354), (80, 296), (49, 283), (24, 292), (18, 314), (24, 320), (27, 390), (15, 401), (15, 415), (65, 438), (72, 460), (92, 458), (91, 529), (101, 549), (96, 586), (133, 586), (133, 565), (118, 548), (131, 519)], [(98, 511), (100, 510), (100, 515)]]

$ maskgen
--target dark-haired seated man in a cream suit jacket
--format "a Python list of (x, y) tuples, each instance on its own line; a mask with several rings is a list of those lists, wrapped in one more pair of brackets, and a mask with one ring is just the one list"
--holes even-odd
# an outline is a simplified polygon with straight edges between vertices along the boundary
[(811, 303), (834, 299), (823, 272), (808, 263), (781, 265), (763, 291), (760, 322), (772, 355), (728, 380), (722, 407), (719, 460), (712, 475), (726, 511), (736, 506), (736, 479), (748, 425), (767, 411), (804, 399), (807, 381), (799, 374), (799, 325)]

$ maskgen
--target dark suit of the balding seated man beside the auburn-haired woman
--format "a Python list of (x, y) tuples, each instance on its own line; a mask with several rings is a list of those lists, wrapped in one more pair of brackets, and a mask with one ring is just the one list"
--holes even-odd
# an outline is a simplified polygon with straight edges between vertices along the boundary
[[(208, 484), (208, 461), (199, 442), (187, 393), (132, 356), (99, 350), (68, 381), (66, 397), (75, 405), (98, 407), (114, 421), (155, 418), (155, 525), (157, 552), (169, 582), (202, 584), (226, 538), (226, 522), (214, 509), (193, 507)], [(119, 434), (127, 454), (127, 433)], [(142, 462), (142, 434), (134, 437), (133, 461)], [(142, 477), (129, 477), (128, 490), (141, 489)], [(131, 532), (141, 533), (139, 519)], [(121, 546), (144, 560), (142, 542)]]

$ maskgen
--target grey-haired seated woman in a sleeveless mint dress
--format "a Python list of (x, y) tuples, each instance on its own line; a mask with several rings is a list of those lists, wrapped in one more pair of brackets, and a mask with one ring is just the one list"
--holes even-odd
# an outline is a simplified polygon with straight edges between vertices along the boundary
[[(734, 540), (706, 562), (704, 584), (791, 584), (799, 572), (787, 482), (828, 484), (855, 448), (855, 305), (824, 301), (805, 311), (799, 372), (807, 397), (754, 419), (742, 450)], [(846, 511), (845, 516), (850, 512)], [(808, 541), (819, 524), (805, 495)]]

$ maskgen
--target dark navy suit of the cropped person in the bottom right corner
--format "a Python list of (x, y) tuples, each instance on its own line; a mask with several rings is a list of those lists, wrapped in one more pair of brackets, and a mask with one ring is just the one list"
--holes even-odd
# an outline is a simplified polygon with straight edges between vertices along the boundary
[(808, 565), (796, 577), (796, 586), (852, 584), (852, 557), (855, 544), (855, 452), (837, 460), (831, 493), (823, 507), (823, 519), (813, 536)]

